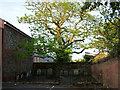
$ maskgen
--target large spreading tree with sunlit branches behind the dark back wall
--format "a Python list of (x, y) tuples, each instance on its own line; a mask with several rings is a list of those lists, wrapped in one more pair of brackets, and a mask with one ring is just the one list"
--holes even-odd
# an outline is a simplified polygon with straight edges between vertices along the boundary
[[(69, 62), (69, 55), (80, 54), (85, 49), (84, 40), (93, 27), (94, 10), (90, 3), (79, 2), (26, 2), (31, 11), (19, 18), (19, 22), (29, 23), (35, 48), (39, 54), (47, 53), (58, 62)], [(79, 49), (81, 51), (74, 51)]]

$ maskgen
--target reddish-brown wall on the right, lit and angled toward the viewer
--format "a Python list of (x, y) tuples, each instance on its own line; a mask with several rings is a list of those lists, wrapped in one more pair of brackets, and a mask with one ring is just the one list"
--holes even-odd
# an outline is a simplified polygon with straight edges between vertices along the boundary
[(92, 76), (108, 88), (119, 88), (119, 60), (120, 58), (113, 58), (106, 62), (93, 64), (91, 66)]

